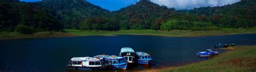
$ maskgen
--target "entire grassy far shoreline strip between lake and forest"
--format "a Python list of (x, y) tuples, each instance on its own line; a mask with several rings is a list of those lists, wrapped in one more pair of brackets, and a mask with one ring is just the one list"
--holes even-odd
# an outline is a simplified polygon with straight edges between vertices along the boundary
[(256, 29), (224, 29), (210, 31), (190, 30), (118, 30), (118, 31), (95, 31), (64, 29), (66, 33), (43, 31), (32, 35), (24, 35), (16, 32), (0, 33), (0, 40), (21, 38), (45, 38), (45, 37), (75, 37), (75, 36), (118, 36), (118, 35), (148, 35), (164, 37), (201, 37), (201, 36), (225, 36), (239, 34), (256, 34)]

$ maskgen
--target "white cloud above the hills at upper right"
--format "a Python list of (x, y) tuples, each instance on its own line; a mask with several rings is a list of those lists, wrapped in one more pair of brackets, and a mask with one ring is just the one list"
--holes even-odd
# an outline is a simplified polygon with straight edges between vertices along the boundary
[(223, 6), (239, 2), (240, 0), (150, 0), (159, 5), (174, 7), (176, 9), (193, 9), (203, 6)]

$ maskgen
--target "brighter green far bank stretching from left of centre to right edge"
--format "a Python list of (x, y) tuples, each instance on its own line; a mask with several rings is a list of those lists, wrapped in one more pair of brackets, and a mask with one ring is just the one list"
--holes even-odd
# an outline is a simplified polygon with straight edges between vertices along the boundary
[(68, 33), (78, 35), (78, 36), (153, 35), (153, 36), (169, 36), (169, 37), (186, 37), (186, 36), (256, 34), (256, 29), (223, 29), (223, 30), (210, 30), (210, 31), (190, 31), (190, 30), (95, 31), (95, 30), (65, 29), (65, 31), (68, 31)]

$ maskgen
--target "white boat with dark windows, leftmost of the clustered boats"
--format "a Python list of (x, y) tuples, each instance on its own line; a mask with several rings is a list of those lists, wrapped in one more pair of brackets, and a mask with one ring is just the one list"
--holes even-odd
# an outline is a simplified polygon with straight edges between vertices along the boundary
[(104, 58), (75, 57), (70, 59), (68, 68), (78, 70), (102, 70), (110, 67), (104, 62)]

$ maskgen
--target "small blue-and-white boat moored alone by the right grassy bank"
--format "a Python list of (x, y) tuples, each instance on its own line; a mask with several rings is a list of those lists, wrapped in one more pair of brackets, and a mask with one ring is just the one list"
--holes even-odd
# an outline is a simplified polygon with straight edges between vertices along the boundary
[(212, 55), (216, 55), (216, 54), (218, 54), (219, 52), (217, 52), (217, 51), (212, 51), (211, 49), (207, 49), (207, 51), (206, 52), (198, 52), (197, 53), (197, 55), (199, 56), (199, 57), (210, 57), (210, 56), (212, 56)]

